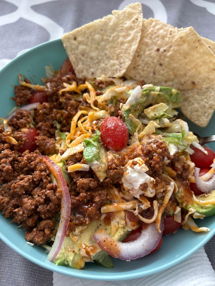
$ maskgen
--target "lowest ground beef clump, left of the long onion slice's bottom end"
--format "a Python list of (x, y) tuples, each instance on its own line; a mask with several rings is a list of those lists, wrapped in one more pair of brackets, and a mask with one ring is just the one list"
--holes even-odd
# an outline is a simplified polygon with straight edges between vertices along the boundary
[(31, 232), (26, 232), (25, 239), (37, 245), (46, 244), (53, 236), (54, 220), (43, 220)]

